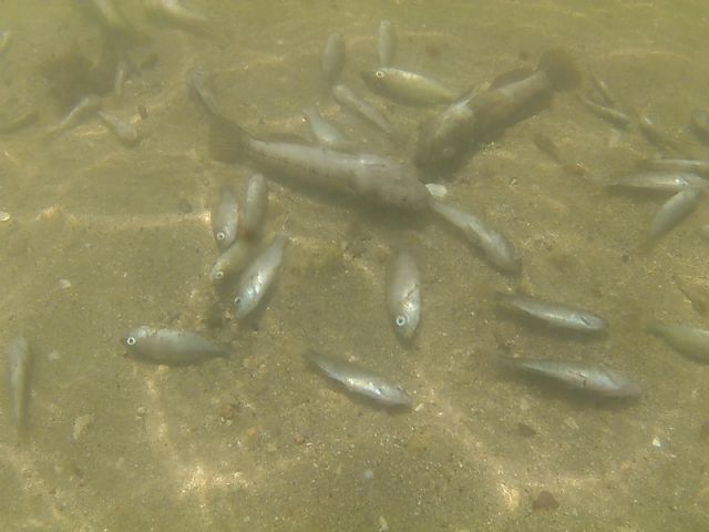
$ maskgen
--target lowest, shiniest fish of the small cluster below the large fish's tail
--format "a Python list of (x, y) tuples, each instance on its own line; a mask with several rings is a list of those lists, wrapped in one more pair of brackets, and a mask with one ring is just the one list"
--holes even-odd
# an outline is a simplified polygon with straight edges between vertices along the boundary
[(282, 262), (287, 242), (287, 235), (282, 233), (276, 235), (268, 247), (258, 254), (242, 274), (234, 297), (237, 319), (244, 319), (251, 314), (268, 293)]

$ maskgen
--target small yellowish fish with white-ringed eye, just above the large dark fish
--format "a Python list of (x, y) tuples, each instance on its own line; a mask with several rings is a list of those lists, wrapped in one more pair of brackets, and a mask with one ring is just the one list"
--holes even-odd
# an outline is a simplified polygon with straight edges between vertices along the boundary
[(362, 80), (377, 93), (399, 103), (429, 105), (451, 103), (458, 94), (435, 80), (391, 66), (362, 72)]

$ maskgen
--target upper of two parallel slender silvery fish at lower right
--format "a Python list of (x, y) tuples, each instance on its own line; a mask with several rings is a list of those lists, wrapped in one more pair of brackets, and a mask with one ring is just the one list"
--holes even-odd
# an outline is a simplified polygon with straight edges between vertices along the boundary
[(496, 294), (496, 300), (506, 310), (535, 318), (549, 327), (580, 332), (600, 332), (608, 328), (608, 323), (600, 316), (569, 305), (511, 294)]

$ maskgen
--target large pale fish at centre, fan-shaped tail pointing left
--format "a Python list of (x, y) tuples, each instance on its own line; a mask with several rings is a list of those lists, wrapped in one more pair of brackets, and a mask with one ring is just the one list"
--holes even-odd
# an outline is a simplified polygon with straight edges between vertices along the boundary
[(422, 211), (429, 206), (429, 191), (415, 170), (389, 157), (260, 141), (224, 117), (215, 117), (210, 151), (222, 161), (236, 162), (243, 155), (265, 174), (354, 194), (386, 207)]

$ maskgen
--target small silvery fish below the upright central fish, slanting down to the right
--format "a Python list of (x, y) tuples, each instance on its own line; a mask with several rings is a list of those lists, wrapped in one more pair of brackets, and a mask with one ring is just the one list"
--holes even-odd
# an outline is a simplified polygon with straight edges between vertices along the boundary
[(306, 352), (306, 358), (354, 393), (361, 393), (389, 407), (411, 406), (411, 398), (401, 387), (369, 369), (312, 350)]

